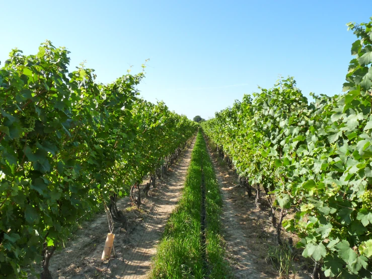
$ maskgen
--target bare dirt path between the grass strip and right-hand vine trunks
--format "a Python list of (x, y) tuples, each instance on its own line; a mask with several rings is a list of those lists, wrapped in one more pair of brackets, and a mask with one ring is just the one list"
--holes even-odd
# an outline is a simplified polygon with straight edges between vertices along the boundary
[[(222, 224), (225, 226), (224, 239), (227, 244), (227, 253), (229, 260), (234, 267), (236, 278), (275, 278), (269, 266), (263, 258), (264, 255), (257, 253), (258, 247), (252, 245), (252, 240), (257, 237), (253, 233), (255, 225), (250, 220), (259, 220), (260, 216), (254, 212), (244, 212), (243, 208), (237, 203), (233, 195), (235, 187), (234, 179), (229, 175), (225, 167), (220, 165), (216, 154), (208, 146), (208, 152), (211, 157), (216, 177), (220, 185), (222, 199), (224, 200), (224, 213), (222, 214)], [(248, 220), (246, 214), (249, 214)], [(247, 222), (248, 221), (248, 222)], [(247, 223), (250, 227), (247, 228)], [(256, 228), (260, 230), (261, 228)], [(262, 245), (262, 244), (261, 244)], [(262, 246), (261, 246), (262, 247)]]

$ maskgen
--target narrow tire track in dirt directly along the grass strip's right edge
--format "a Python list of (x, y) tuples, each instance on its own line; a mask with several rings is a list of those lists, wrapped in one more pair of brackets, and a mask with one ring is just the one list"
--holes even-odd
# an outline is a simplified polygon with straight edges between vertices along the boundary
[(207, 144), (208, 154), (213, 163), (215, 174), (220, 185), (220, 192), (224, 205), (222, 207), (222, 224), (224, 228), (224, 239), (226, 241), (226, 250), (229, 258), (233, 258), (232, 265), (234, 267), (235, 278), (275, 278), (276, 276), (269, 276), (262, 267), (258, 267), (257, 258), (249, 248), (247, 238), (251, 237), (247, 234), (247, 230), (240, 224), (241, 221), (236, 216), (237, 210), (234, 206), (234, 201), (231, 198), (229, 190), (234, 185), (231, 183), (231, 178), (224, 168), (220, 167), (218, 160), (212, 156), (210, 147)]

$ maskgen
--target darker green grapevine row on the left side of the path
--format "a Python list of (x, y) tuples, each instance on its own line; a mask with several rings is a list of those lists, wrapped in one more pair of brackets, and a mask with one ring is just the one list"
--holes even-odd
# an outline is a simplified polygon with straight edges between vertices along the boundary
[[(0, 275), (7, 278), (37, 275), (35, 263), (61, 248), (81, 216), (126, 195), (196, 130), (163, 102), (137, 96), (143, 72), (99, 84), (84, 65), (69, 72), (68, 53), (46, 41), (37, 55), (12, 50), (0, 68)], [(44, 266), (41, 278), (48, 272)]]

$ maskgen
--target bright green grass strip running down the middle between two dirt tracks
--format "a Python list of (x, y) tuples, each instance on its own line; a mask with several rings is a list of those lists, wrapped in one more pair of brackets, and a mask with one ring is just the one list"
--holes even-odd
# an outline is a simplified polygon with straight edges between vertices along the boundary
[[(201, 241), (201, 178), (206, 186), (205, 243)], [(199, 131), (182, 197), (168, 220), (154, 258), (152, 278), (228, 278), (220, 235), (222, 200), (204, 138)]]

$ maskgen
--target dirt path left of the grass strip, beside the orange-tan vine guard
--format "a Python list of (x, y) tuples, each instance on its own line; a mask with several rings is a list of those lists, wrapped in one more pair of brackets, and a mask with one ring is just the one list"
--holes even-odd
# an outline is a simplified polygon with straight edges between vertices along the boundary
[(50, 271), (53, 277), (146, 278), (169, 215), (182, 194), (194, 143), (195, 138), (170, 175), (157, 180), (158, 188), (152, 189), (149, 197), (142, 200), (139, 212), (130, 207), (129, 198), (117, 202), (118, 209), (126, 212), (129, 225), (124, 230), (120, 224), (115, 224), (115, 257), (101, 261), (108, 230), (107, 217), (101, 214), (83, 226), (68, 247), (52, 257)]

